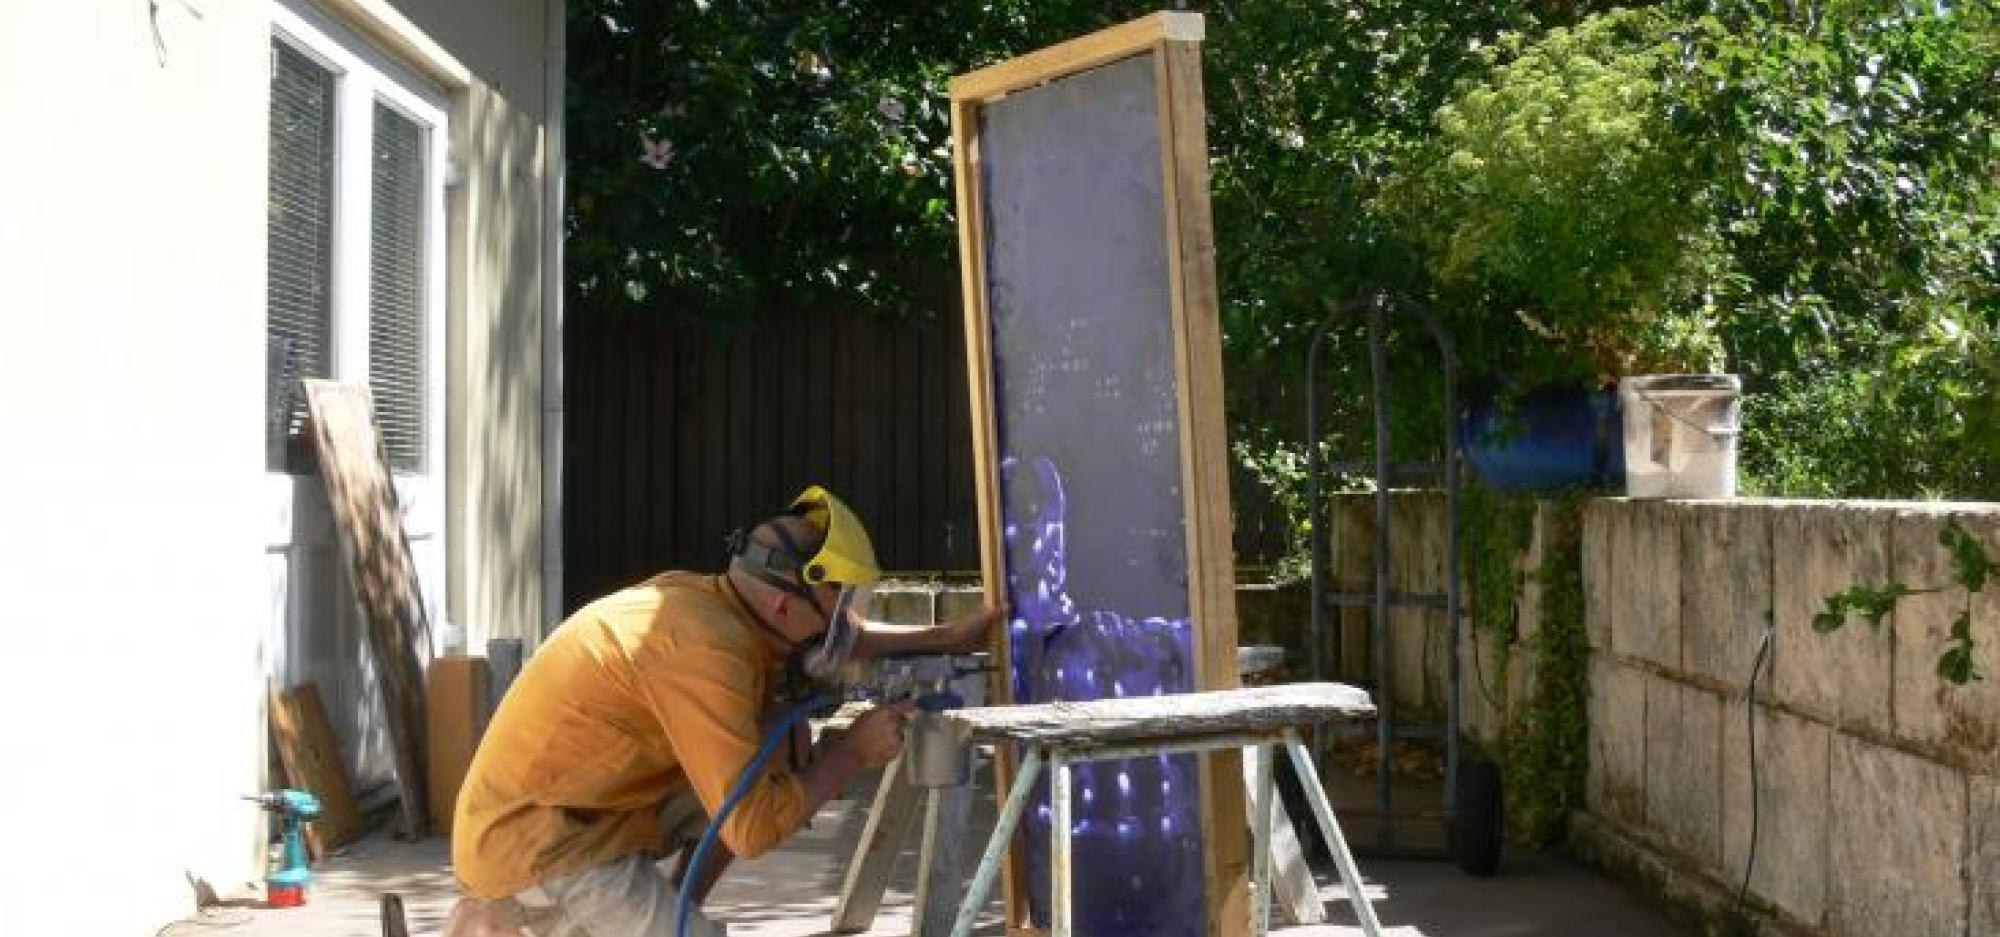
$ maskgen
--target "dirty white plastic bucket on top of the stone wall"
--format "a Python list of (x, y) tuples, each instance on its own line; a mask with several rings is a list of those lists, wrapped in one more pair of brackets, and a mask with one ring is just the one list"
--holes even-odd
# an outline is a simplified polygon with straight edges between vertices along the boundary
[(1638, 374), (1618, 382), (1626, 497), (1734, 499), (1742, 380), (1736, 374)]

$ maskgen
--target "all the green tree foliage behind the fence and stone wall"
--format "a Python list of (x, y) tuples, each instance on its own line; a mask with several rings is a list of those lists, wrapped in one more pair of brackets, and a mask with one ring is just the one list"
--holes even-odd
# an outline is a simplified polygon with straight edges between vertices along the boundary
[[(1154, 6), (574, 2), (578, 310), (948, 310), (948, 76)], [(1300, 450), (1310, 330), (1396, 292), (1474, 374), (1744, 374), (1754, 491), (2000, 493), (1992, 4), (1204, 12), (1232, 412), (1272, 440), (1248, 460)], [(1332, 348), (1324, 442), (1354, 458), (1358, 328)], [(1434, 442), (1436, 352), (1390, 356), (1398, 428)]]

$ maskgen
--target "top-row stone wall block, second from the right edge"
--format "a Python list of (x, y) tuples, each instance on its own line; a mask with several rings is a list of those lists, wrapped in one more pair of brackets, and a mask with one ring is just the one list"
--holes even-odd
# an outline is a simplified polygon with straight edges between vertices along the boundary
[(1890, 731), (1892, 639), (1860, 615), (1832, 635), (1812, 631), (1826, 597), (1888, 583), (1894, 511), (1850, 503), (1792, 503), (1772, 525), (1772, 599), (1778, 639), (1772, 687), (1780, 701), (1836, 723)]

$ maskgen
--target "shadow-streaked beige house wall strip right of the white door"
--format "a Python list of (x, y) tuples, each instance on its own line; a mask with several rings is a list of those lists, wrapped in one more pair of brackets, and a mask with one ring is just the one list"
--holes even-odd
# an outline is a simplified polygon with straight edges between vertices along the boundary
[[(452, 194), (454, 334), (448, 446), (482, 464), (448, 499), (452, 615), (478, 651), (534, 645), (542, 613), (542, 0), (398, 0), (474, 74), (452, 112), (452, 150), (472, 154)], [(560, 104), (556, 106), (560, 112)]]

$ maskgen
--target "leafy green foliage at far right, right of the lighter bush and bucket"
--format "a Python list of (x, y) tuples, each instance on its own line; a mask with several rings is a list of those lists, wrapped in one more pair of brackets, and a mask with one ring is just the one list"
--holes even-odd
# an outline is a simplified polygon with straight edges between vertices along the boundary
[(1752, 483), (2000, 497), (1994, 8), (1742, 4), (1684, 32)]

